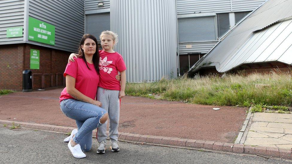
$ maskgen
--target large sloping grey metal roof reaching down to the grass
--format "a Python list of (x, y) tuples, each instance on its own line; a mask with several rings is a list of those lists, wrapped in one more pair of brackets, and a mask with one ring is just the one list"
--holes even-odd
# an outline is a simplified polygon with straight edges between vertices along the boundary
[(226, 72), (253, 62), (292, 64), (291, 16), (292, 0), (265, 2), (230, 30), (189, 71), (215, 66), (218, 72)]

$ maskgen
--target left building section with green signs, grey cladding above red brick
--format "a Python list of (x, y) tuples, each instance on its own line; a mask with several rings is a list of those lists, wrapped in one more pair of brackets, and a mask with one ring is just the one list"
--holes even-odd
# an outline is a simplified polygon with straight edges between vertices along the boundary
[(33, 89), (63, 86), (83, 34), (84, 1), (0, 1), (0, 88), (22, 90), (26, 69)]

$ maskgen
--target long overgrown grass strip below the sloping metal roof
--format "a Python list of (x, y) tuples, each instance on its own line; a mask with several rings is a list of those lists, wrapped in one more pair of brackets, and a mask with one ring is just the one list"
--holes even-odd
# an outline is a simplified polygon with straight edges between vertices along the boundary
[(288, 73), (162, 79), (159, 82), (127, 83), (126, 94), (161, 94), (162, 99), (204, 105), (292, 106), (291, 80), (292, 75)]

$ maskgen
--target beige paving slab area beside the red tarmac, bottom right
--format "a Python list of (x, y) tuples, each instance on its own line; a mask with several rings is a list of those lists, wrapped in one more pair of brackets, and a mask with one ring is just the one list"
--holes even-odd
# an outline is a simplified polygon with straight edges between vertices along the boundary
[(254, 113), (245, 145), (267, 146), (291, 150), (292, 114)]

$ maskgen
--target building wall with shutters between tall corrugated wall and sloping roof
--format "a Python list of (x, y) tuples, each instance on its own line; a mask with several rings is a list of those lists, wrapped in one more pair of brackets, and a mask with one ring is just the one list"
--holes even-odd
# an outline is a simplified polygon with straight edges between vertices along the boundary
[(180, 74), (265, 0), (177, 0)]

